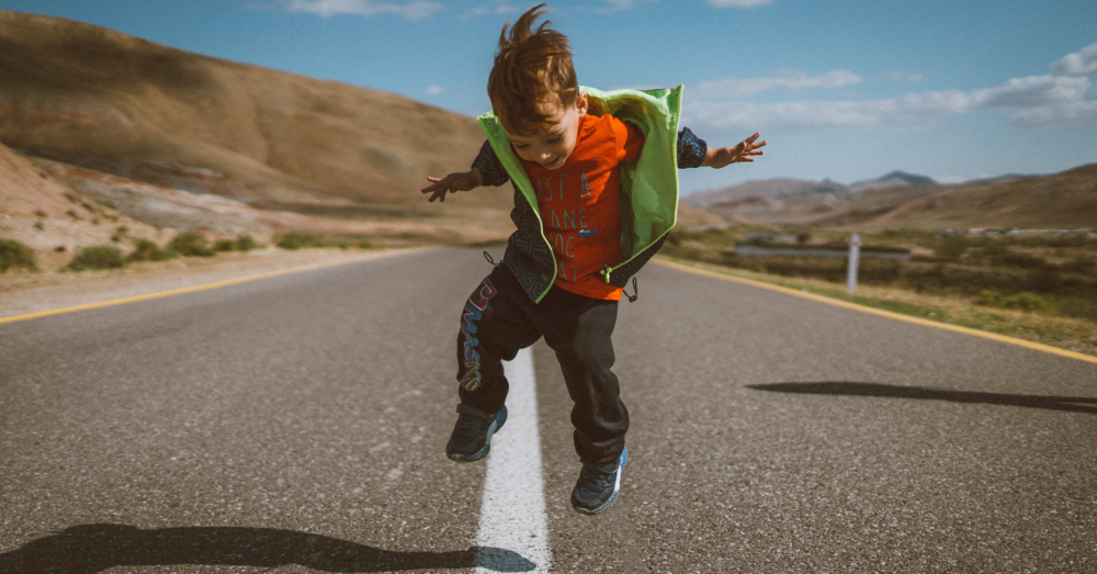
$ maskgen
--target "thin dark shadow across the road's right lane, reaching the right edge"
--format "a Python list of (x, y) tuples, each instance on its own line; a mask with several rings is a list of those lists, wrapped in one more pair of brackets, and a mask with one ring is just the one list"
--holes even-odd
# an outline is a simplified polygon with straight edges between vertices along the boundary
[(950, 391), (924, 386), (901, 386), (881, 383), (769, 383), (748, 384), (747, 389), (778, 393), (800, 393), (812, 395), (881, 396), (890, 398), (923, 398), (949, 401), (952, 403), (981, 403), (984, 405), (1010, 405), (1071, 413), (1097, 414), (1097, 397), (1014, 395), (1007, 393), (982, 393), (977, 391)]

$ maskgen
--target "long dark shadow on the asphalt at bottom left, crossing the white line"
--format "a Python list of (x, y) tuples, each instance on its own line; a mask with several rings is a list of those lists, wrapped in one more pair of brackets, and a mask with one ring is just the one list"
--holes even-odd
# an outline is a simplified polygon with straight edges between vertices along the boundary
[(324, 572), (536, 567), (516, 552), (473, 547), (453, 552), (394, 552), (325, 536), (273, 528), (183, 527), (142, 530), (80, 525), (0, 553), (0, 572), (92, 574), (114, 566), (299, 564)]

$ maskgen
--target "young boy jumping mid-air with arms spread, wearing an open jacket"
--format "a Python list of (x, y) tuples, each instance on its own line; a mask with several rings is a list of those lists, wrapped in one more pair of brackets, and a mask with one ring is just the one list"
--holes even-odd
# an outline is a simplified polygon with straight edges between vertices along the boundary
[[(567, 36), (533, 7), (499, 37), (488, 78), (488, 140), (470, 171), (428, 178), (430, 201), (479, 185), (514, 187), (518, 225), (502, 265), (465, 303), (457, 335), (457, 423), (445, 447), (457, 462), (487, 455), (507, 420), (502, 360), (544, 337), (575, 401), (583, 470), (572, 507), (600, 514), (617, 502), (629, 458), (629, 412), (610, 371), (618, 302), (675, 224), (676, 167), (722, 168), (762, 155), (758, 134), (710, 148), (678, 133), (681, 87), (601, 92), (580, 88)], [(677, 134), (677, 136), (676, 136)]]

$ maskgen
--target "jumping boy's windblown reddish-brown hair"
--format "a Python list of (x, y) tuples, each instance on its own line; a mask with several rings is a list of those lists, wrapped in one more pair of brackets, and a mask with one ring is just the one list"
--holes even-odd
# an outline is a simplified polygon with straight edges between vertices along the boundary
[(566, 108), (579, 95), (567, 36), (547, 30), (547, 20), (533, 31), (533, 21), (548, 11), (544, 8), (527, 10), (511, 26), (509, 38), (510, 21), (502, 25), (499, 53), (487, 79), (491, 109), (504, 128), (517, 135), (533, 135), (551, 117), (543, 106)]

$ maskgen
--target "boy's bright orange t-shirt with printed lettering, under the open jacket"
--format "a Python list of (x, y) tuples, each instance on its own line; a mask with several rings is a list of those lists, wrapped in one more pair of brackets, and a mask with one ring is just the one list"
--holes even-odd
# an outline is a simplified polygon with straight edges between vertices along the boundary
[(545, 237), (556, 256), (555, 284), (591, 299), (621, 300), (599, 273), (621, 252), (621, 161), (644, 146), (638, 127), (612, 115), (579, 117), (575, 149), (559, 169), (522, 160), (538, 194)]

